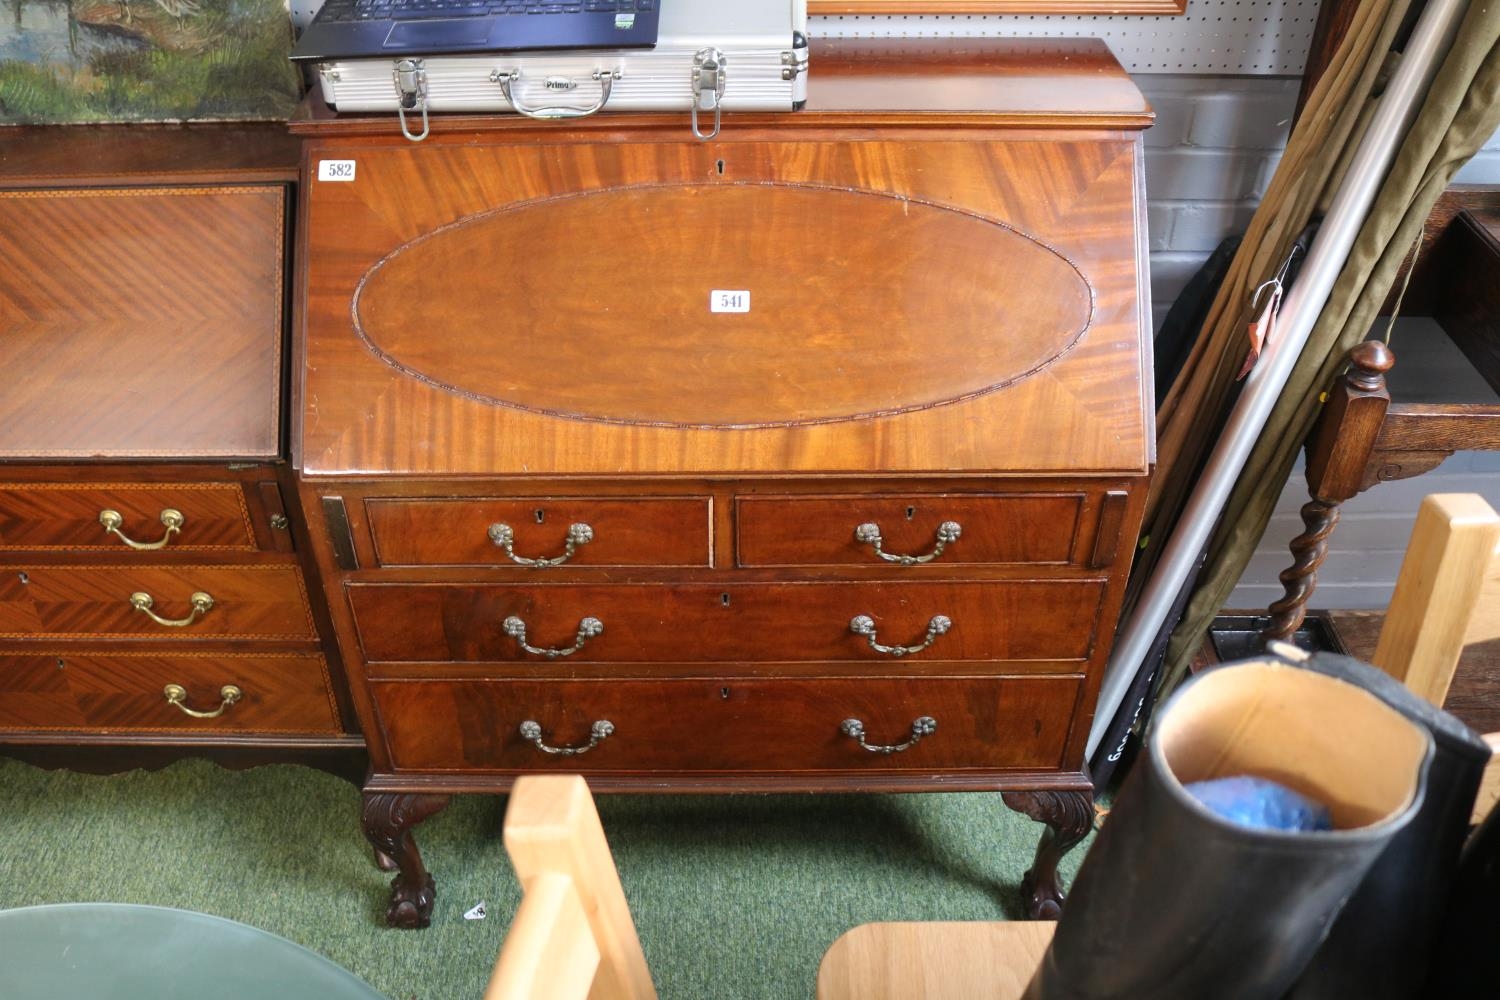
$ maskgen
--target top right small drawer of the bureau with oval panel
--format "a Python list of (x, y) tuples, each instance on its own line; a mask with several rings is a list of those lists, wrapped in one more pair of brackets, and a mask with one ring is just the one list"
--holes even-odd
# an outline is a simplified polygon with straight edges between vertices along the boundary
[(735, 552), (742, 567), (1070, 562), (1083, 501), (1083, 493), (740, 496)]

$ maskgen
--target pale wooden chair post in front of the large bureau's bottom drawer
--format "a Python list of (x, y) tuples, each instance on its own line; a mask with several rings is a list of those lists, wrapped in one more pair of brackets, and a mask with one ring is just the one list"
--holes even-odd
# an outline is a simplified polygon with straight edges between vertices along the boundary
[(584, 778), (518, 778), (506, 808), (506, 853), (522, 898), (484, 1000), (656, 1000)]

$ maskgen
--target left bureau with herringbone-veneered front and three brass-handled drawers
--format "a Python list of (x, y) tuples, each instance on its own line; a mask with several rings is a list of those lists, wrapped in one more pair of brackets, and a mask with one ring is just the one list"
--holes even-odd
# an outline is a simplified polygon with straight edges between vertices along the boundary
[(284, 451), (292, 141), (0, 141), (0, 751), (348, 774)]

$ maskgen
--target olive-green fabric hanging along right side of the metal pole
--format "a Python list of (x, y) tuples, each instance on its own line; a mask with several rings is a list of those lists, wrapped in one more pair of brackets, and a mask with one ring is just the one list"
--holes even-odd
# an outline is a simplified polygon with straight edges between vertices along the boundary
[[(1383, 36), (1394, 33), (1402, 15), (1396, 7), (1404, 4), (1390, 4), (1386, 10)], [(1162, 690), (1182, 679), (1214, 616), (1244, 573), (1298, 450), (1317, 420), (1322, 393), (1346, 367), (1350, 348), (1365, 339), (1438, 195), (1458, 168), (1500, 127), (1497, 42), (1500, 4), (1474, 0), (1214, 531), (1204, 570), (1182, 622), (1172, 634)], [(1372, 55), (1380, 55), (1378, 46)], [(1368, 60), (1370, 64), (1377, 61), (1374, 57)], [(1350, 129), (1350, 135), (1358, 132), (1358, 127)], [(1341, 153), (1335, 156), (1341, 159)], [(1286, 162), (1278, 175), (1282, 169), (1287, 169)], [(1335, 168), (1330, 175), (1341, 172)], [(1278, 207), (1263, 202), (1260, 211), (1268, 210), (1278, 211)], [(1242, 342), (1239, 351), (1244, 351)]]

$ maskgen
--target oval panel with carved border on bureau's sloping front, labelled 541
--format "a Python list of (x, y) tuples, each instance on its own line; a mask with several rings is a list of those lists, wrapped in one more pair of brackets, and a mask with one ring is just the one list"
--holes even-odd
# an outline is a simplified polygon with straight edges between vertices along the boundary
[(490, 403), (754, 427), (992, 391), (1072, 346), (1092, 304), (1070, 261), (992, 219), (846, 189), (688, 184), (436, 229), (370, 268), (354, 321), (388, 364)]

